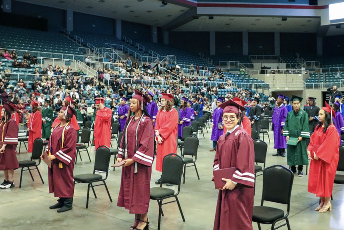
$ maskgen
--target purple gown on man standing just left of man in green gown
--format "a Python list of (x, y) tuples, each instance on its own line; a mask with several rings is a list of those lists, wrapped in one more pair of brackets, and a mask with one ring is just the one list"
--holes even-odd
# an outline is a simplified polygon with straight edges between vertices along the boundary
[(281, 105), (280, 107), (276, 106), (273, 109), (272, 114), (272, 124), (273, 124), (273, 139), (274, 139), (274, 149), (286, 149), (287, 148), (287, 139), (281, 133), (281, 130), (284, 127), (284, 121), (286, 120), (288, 114), (287, 107)]

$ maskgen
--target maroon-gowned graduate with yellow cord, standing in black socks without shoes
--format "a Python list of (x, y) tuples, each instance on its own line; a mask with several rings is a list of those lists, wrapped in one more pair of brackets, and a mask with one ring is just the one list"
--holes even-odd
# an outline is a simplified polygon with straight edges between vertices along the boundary
[(48, 167), (49, 193), (54, 193), (54, 196), (59, 198), (57, 204), (49, 208), (59, 208), (57, 212), (73, 208), (76, 130), (71, 118), (75, 114), (75, 110), (70, 106), (63, 107), (58, 112), (57, 118), (60, 122), (53, 128), (45, 150), (51, 161), (51, 168)]

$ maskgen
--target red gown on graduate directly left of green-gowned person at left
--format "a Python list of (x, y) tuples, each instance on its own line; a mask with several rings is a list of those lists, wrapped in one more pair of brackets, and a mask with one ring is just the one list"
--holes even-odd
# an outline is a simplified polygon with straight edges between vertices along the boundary
[(28, 121), (29, 141), (28, 153), (32, 153), (33, 142), (37, 138), (42, 138), (42, 114), (39, 110), (30, 114)]

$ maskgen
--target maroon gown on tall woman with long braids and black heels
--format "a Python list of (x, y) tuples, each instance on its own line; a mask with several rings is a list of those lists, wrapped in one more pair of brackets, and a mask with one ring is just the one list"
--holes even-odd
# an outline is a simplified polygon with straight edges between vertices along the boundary
[[(132, 118), (132, 117), (131, 117)], [(129, 118), (129, 119), (131, 119)], [(121, 187), (119, 190), (117, 206), (129, 209), (129, 213), (147, 213), (150, 198), (150, 179), (152, 173), (152, 164), (154, 157), (154, 126), (148, 116), (143, 116), (137, 131), (136, 127), (140, 119), (130, 122), (127, 127), (128, 158), (135, 163), (122, 168)], [(125, 157), (125, 142), (123, 141), (118, 151), (120, 158)], [(137, 173), (135, 173), (135, 164), (137, 163)]]

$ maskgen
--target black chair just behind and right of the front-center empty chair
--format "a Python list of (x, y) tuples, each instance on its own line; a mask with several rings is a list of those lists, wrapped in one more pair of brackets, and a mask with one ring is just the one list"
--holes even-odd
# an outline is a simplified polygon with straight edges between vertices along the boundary
[[(198, 118), (199, 119), (199, 118)], [(195, 166), (196, 174), (198, 179), (200, 179), (200, 176), (198, 175), (197, 167), (196, 167), (196, 160), (197, 160), (197, 150), (198, 150), (198, 138), (196, 136), (190, 135), (184, 140), (184, 151), (183, 151), (183, 163), (184, 163), (184, 173), (183, 173), (183, 184), (185, 184), (185, 173), (186, 173), (186, 167)], [(189, 155), (190, 157), (185, 157), (185, 155)], [(193, 158), (195, 157), (195, 158)], [(186, 166), (187, 164), (193, 164)]]

